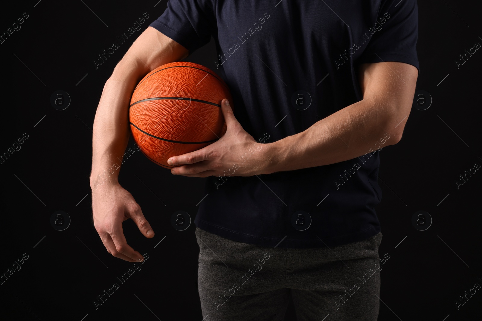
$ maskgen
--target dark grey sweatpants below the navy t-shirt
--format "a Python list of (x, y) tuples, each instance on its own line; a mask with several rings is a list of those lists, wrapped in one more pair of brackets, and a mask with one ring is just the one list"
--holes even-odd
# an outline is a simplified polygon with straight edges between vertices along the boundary
[(382, 233), (331, 248), (273, 248), (196, 228), (204, 321), (376, 321)]

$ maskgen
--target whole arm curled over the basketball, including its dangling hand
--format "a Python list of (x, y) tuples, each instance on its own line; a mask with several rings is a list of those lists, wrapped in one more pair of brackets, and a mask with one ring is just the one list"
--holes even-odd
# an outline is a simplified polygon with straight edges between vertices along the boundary
[(154, 236), (140, 206), (118, 182), (121, 157), (131, 134), (129, 103), (135, 86), (149, 71), (187, 54), (186, 48), (147, 27), (107, 79), (95, 113), (90, 176), (94, 226), (107, 252), (129, 262), (143, 256), (127, 244), (122, 222), (132, 218), (146, 237)]

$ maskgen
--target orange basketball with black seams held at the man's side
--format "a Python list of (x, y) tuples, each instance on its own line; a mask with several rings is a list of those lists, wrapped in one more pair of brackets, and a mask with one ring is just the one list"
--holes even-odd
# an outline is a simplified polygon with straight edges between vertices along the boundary
[(134, 141), (151, 161), (173, 168), (168, 158), (206, 147), (226, 133), (224, 98), (232, 108), (228, 86), (209, 68), (188, 62), (161, 65), (132, 94)]

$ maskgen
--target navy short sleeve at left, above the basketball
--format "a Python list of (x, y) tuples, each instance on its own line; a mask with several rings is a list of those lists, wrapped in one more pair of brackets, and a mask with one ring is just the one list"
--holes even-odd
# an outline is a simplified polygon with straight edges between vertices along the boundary
[(216, 23), (212, 11), (215, 10), (213, 2), (214, 0), (169, 0), (164, 13), (149, 26), (192, 53), (211, 40)]

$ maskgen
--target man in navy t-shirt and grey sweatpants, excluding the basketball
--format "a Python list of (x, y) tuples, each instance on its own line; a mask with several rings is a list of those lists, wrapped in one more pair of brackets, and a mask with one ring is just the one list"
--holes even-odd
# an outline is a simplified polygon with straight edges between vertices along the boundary
[(416, 0), (170, 0), (97, 108), (91, 187), (107, 251), (142, 260), (122, 233), (128, 218), (154, 236), (119, 171), (98, 179), (126, 148), (134, 86), (214, 37), (233, 97), (221, 102), (227, 132), (170, 163), (207, 177), (195, 219), (203, 316), (282, 320), (291, 295), (298, 320), (376, 320), (389, 258), (378, 255), (377, 152), (400, 141), (410, 113), (417, 26)]

